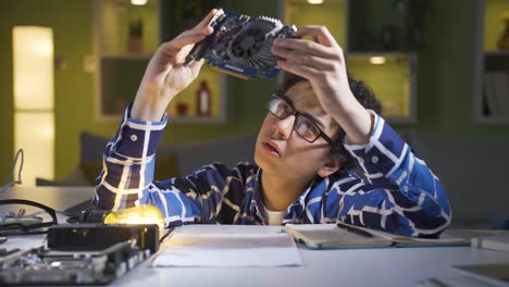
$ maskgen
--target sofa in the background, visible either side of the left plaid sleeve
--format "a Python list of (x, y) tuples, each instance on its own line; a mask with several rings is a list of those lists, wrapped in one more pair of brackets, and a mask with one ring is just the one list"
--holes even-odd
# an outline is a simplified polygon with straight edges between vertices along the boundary
[[(250, 161), (254, 154), (257, 133), (185, 145), (160, 145), (157, 150), (154, 179), (185, 176), (211, 162), (234, 166)], [(79, 134), (79, 162), (60, 180), (37, 179), (38, 186), (91, 186), (102, 170), (102, 153), (110, 139), (89, 132)]]

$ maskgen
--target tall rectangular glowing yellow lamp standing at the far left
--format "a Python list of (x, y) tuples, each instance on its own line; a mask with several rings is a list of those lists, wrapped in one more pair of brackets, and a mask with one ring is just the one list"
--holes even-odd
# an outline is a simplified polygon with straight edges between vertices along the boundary
[(53, 30), (49, 27), (12, 28), (14, 151), (26, 155), (23, 185), (36, 178), (53, 179)]

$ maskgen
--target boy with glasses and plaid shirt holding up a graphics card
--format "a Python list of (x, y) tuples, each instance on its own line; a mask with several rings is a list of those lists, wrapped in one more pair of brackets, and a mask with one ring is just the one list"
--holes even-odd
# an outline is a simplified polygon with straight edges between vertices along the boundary
[[(450, 224), (439, 179), (376, 113), (362, 83), (347, 76), (342, 48), (325, 27), (276, 39), (285, 77), (269, 99), (254, 162), (203, 166), (153, 180), (156, 148), (170, 101), (201, 62), (184, 65), (194, 43), (212, 33), (213, 10), (195, 28), (163, 43), (148, 64), (133, 105), (104, 151), (92, 203), (116, 210), (158, 207), (167, 225), (187, 223), (333, 223), (434, 237)], [(314, 41), (301, 39), (308, 35)], [(349, 170), (360, 167), (367, 180)]]

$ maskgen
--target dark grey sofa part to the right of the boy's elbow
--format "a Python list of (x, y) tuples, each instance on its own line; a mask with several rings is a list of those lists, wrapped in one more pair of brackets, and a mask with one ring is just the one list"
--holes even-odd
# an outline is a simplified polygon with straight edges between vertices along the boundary
[[(509, 139), (410, 136), (413, 149), (442, 179), (456, 227), (506, 226)], [(497, 223), (498, 222), (498, 223)]]

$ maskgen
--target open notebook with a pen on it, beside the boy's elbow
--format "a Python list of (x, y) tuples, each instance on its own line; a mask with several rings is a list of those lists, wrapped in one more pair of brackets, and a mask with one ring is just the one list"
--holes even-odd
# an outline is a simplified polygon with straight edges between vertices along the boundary
[(311, 249), (469, 246), (470, 240), (444, 235), (439, 239), (417, 238), (338, 224), (288, 224), (285, 230)]

